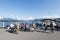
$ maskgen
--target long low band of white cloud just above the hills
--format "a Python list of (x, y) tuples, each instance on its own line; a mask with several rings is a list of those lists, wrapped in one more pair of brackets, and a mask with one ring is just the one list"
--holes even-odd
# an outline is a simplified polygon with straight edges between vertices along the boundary
[[(40, 18), (60, 18), (60, 16), (59, 15), (52, 15), (52, 16), (41, 16), (41, 17), (35, 17), (35, 18), (33, 18), (32, 16), (30, 16), (30, 17), (20, 17), (20, 16), (16, 16), (16, 15), (10, 15), (11, 16), (11, 18), (13, 18), (13, 19), (18, 19), (18, 20), (34, 20), (34, 19), (40, 19)], [(2, 17), (0, 17), (0, 18), (2, 18)]]

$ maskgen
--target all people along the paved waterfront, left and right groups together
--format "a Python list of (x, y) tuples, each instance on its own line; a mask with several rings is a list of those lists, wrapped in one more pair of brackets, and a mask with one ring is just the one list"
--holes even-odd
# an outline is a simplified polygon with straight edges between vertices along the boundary
[[(51, 32), (53, 32), (54, 30), (54, 26), (56, 26), (56, 24), (54, 23), (54, 21), (43, 21), (42, 22), (42, 27), (43, 27), (43, 31), (47, 31), (48, 27), (50, 27)], [(18, 33), (18, 31), (29, 31), (29, 32), (33, 32), (36, 28), (36, 24), (34, 22), (32, 22), (30, 24), (30, 27), (28, 26), (28, 23), (26, 22), (25, 24), (22, 23), (22, 25), (20, 25), (20, 23), (17, 24), (11, 24), (10, 27), (7, 27), (8, 30), (10, 30), (10, 32), (12, 33)]]

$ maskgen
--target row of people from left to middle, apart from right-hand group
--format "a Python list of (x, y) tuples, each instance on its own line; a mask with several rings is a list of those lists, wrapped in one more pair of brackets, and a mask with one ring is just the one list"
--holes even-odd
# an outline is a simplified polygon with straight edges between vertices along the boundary
[(32, 22), (30, 24), (30, 28), (28, 26), (28, 23), (26, 22), (25, 24), (22, 23), (22, 25), (20, 25), (20, 23), (17, 23), (17, 24), (13, 24), (11, 23), (9, 27), (7, 27), (7, 29), (9, 30), (9, 32), (11, 33), (18, 33), (18, 31), (31, 31), (33, 32), (34, 31), (34, 27), (35, 27), (35, 24)]

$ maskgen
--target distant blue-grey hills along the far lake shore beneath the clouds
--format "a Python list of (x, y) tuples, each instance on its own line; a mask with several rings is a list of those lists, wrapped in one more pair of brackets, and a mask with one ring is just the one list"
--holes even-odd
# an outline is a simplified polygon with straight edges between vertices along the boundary
[[(3, 18), (3, 19), (0, 19), (0, 21), (39, 22), (39, 21), (47, 20), (47, 19), (51, 19), (51, 18), (46, 18), (46, 19), (34, 19), (34, 20), (17, 20), (17, 19), (12, 19), (12, 18)], [(54, 18), (54, 19), (51, 19), (51, 20), (59, 21), (60, 18)]]

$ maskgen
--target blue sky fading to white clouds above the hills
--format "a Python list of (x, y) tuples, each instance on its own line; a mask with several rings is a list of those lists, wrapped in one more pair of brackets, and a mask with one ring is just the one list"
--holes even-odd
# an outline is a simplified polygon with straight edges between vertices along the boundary
[(60, 17), (60, 0), (0, 0), (0, 18)]

